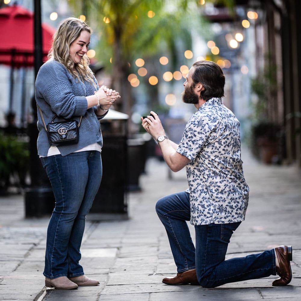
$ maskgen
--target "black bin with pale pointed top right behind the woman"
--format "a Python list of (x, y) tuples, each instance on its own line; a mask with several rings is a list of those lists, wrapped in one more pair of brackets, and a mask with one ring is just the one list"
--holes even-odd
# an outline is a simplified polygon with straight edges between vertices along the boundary
[(109, 110), (101, 119), (102, 179), (89, 220), (127, 219), (127, 120), (128, 115)]

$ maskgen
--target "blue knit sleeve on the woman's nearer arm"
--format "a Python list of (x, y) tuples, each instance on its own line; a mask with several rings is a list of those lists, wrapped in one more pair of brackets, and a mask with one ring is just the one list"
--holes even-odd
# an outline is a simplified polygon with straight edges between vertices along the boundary
[(76, 82), (64, 65), (50, 61), (42, 65), (36, 79), (36, 95), (43, 98), (57, 116), (66, 119), (85, 115), (85, 85)]

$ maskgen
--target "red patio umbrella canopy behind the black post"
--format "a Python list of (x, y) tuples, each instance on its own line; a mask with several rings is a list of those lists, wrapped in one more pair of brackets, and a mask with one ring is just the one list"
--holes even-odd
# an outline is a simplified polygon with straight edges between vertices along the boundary
[[(33, 66), (34, 16), (19, 5), (0, 9), (0, 64)], [(43, 61), (47, 60), (55, 29), (42, 23)]]

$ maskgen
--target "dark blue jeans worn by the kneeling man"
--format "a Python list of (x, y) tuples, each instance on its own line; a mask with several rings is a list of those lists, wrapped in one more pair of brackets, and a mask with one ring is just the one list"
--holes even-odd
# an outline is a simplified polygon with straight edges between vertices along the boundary
[(178, 272), (196, 268), (203, 287), (276, 275), (274, 249), (225, 260), (233, 231), (240, 222), (197, 225), (194, 244), (186, 221), (190, 220), (189, 193), (183, 191), (158, 200), (156, 212), (163, 223)]

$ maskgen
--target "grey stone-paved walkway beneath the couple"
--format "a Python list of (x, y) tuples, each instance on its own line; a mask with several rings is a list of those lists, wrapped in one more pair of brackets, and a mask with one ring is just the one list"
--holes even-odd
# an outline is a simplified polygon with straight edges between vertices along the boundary
[[(44, 287), (48, 218), (24, 219), (23, 196), (0, 198), (0, 300), (158, 301), (158, 300), (300, 300), (301, 171), (294, 166), (265, 166), (243, 150), (250, 186), (246, 220), (234, 232), (227, 258), (259, 253), (282, 244), (293, 246), (293, 279), (272, 287), (277, 276), (226, 284), (213, 289), (168, 286), (176, 274), (166, 232), (154, 210), (160, 197), (187, 188), (185, 170), (172, 173), (164, 162), (147, 161), (142, 191), (128, 196), (128, 220), (88, 220), (82, 242), (85, 274), (97, 287), (54, 290)], [(194, 238), (194, 229), (191, 227)]]

